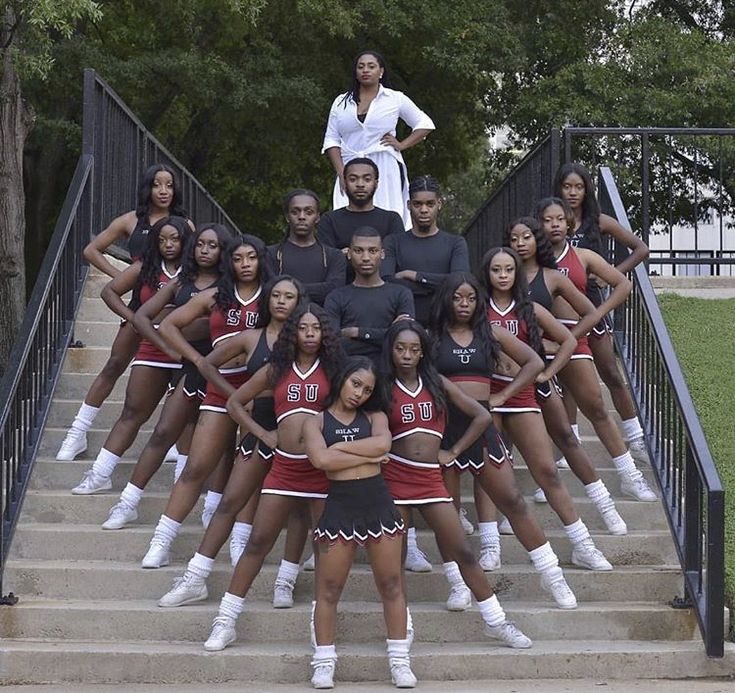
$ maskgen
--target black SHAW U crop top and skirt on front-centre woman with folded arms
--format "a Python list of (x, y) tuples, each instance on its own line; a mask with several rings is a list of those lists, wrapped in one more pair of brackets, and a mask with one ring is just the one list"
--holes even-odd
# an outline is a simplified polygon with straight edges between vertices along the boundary
[[(322, 435), (327, 447), (335, 443), (362, 440), (372, 435), (370, 419), (360, 410), (349, 424), (324, 411)], [(328, 544), (354, 541), (364, 546), (384, 536), (403, 534), (401, 513), (388, 492), (382, 474), (362, 479), (329, 482), (324, 512), (314, 528), (314, 538)]]

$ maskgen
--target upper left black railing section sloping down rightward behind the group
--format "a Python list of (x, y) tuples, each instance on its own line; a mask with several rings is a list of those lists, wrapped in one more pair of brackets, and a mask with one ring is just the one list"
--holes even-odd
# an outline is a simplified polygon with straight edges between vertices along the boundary
[(201, 183), (90, 68), (84, 71), (82, 153), (94, 158), (93, 233), (135, 207), (141, 178), (155, 163), (168, 164), (176, 171), (184, 207), (195, 224), (217, 222), (238, 231)]

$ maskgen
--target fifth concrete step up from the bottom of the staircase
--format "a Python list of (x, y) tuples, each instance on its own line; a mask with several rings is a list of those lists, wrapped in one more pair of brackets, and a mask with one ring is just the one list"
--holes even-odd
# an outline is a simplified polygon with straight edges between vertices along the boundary
[[(81, 478), (80, 476), (75, 484), (79, 483)], [(70, 524), (95, 524), (99, 522), (101, 524), (107, 519), (110, 508), (117, 502), (122, 488), (123, 484), (120, 484), (119, 488), (113, 488), (113, 491), (93, 496), (74, 496), (71, 494), (71, 485), (69, 491), (29, 490), (23, 506), (22, 522), (64, 522)], [(165, 508), (168, 497), (169, 493), (167, 492), (146, 492), (138, 508), (138, 522), (140, 524), (157, 522)], [(472, 522), (476, 522), (476, 513), (474, 506), (471, 504), (471, 498), (463, 498), (463, 501), (468, 518)], [(526, 498), (526, 501), (529, 504), (533, 503), (531, 498)], [(589, 500), (578, 498), (575, 505), (590, 531), (600, 533), (606, 531), (602, 518)], [(665, 516), (658, 503), (620, 500), (617, 502), (617, 507), (631, 530), (658, 530), (667, 527)], [(533, 504), (533, 513), (543, 527), (561, 528), (559, 517), (548, 504)], [(417, 527), (425, 527), (420, 513), (414, 512), (414, 520)]]

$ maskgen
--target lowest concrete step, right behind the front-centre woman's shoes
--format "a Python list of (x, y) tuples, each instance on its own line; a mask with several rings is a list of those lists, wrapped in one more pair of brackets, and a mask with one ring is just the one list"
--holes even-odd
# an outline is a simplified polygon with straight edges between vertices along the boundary
[[(206, 629), (205, 629), (206, 630)], [(205, 634), (206, 637), (206, 634)], [(724, 659), (707, 659), (700, 643), (643, 640), (537, 641), (529, 650), (492, 642), (415, 643), (412, 666), (419, 680), (493, 678), (637, 679), (729, 676), (732, 646)], [(311, 648), (306, 638), (281, 643), (238, 642), (218, 653), (195, 643), (91, 643), (87, 641), (6, 640), (5, 684), (54, 681), (213, 683), (248, 681), (307, 685)], [(384, 644), (340, 644), (337, 681), (385, 681)], [(247, 674), (245, 674), (247, 672)], [(389, 689), (392, 690), (392, 689)]]

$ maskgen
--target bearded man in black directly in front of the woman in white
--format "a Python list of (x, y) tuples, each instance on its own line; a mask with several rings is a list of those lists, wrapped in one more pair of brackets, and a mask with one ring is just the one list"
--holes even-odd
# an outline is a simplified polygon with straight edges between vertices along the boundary
[(392, 233), (405, 233), (399, 214), (380, 209), (373, 204), (373, 196), (380, 181), (378, 167), (368, 158), (350, 159), (344, 168), (346, 207), (327, 212), (319, 222), (319, 240), (345, 255), (352, 234), (363, 226), (371, 226), (381, 238)]

